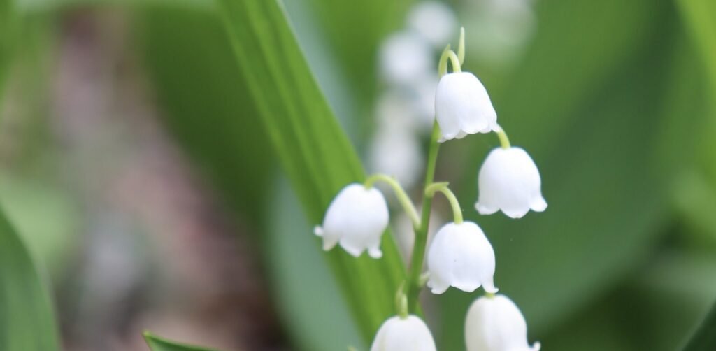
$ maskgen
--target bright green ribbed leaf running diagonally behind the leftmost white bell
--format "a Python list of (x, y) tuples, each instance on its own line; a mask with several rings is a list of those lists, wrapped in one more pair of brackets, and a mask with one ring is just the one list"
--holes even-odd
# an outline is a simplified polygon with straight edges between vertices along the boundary
[[(281, 6), (221, 1), (221, 13), (264, 130), (309, 223), (319, 223), (340, 188), (364, 178), (359, 159), (321, 95)], [(303, 235), (311, 240), (311, 233)], [(317, 249), (319, 241), (313, 240)], [(382, 249), (379, 260), (354, 259), (339, 249), (326, 254), (365, 340), (393, 314), (392, 297), (404, 275), (391, 236), (384, 236)]]

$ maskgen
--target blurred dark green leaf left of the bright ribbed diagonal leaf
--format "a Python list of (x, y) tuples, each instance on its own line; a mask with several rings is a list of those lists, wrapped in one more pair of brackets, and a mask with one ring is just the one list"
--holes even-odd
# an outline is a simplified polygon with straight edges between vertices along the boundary
[(215, 11), (148, 6), (138, 34), (173, 136), (245, 221), (258, 226), (273, 155)]

